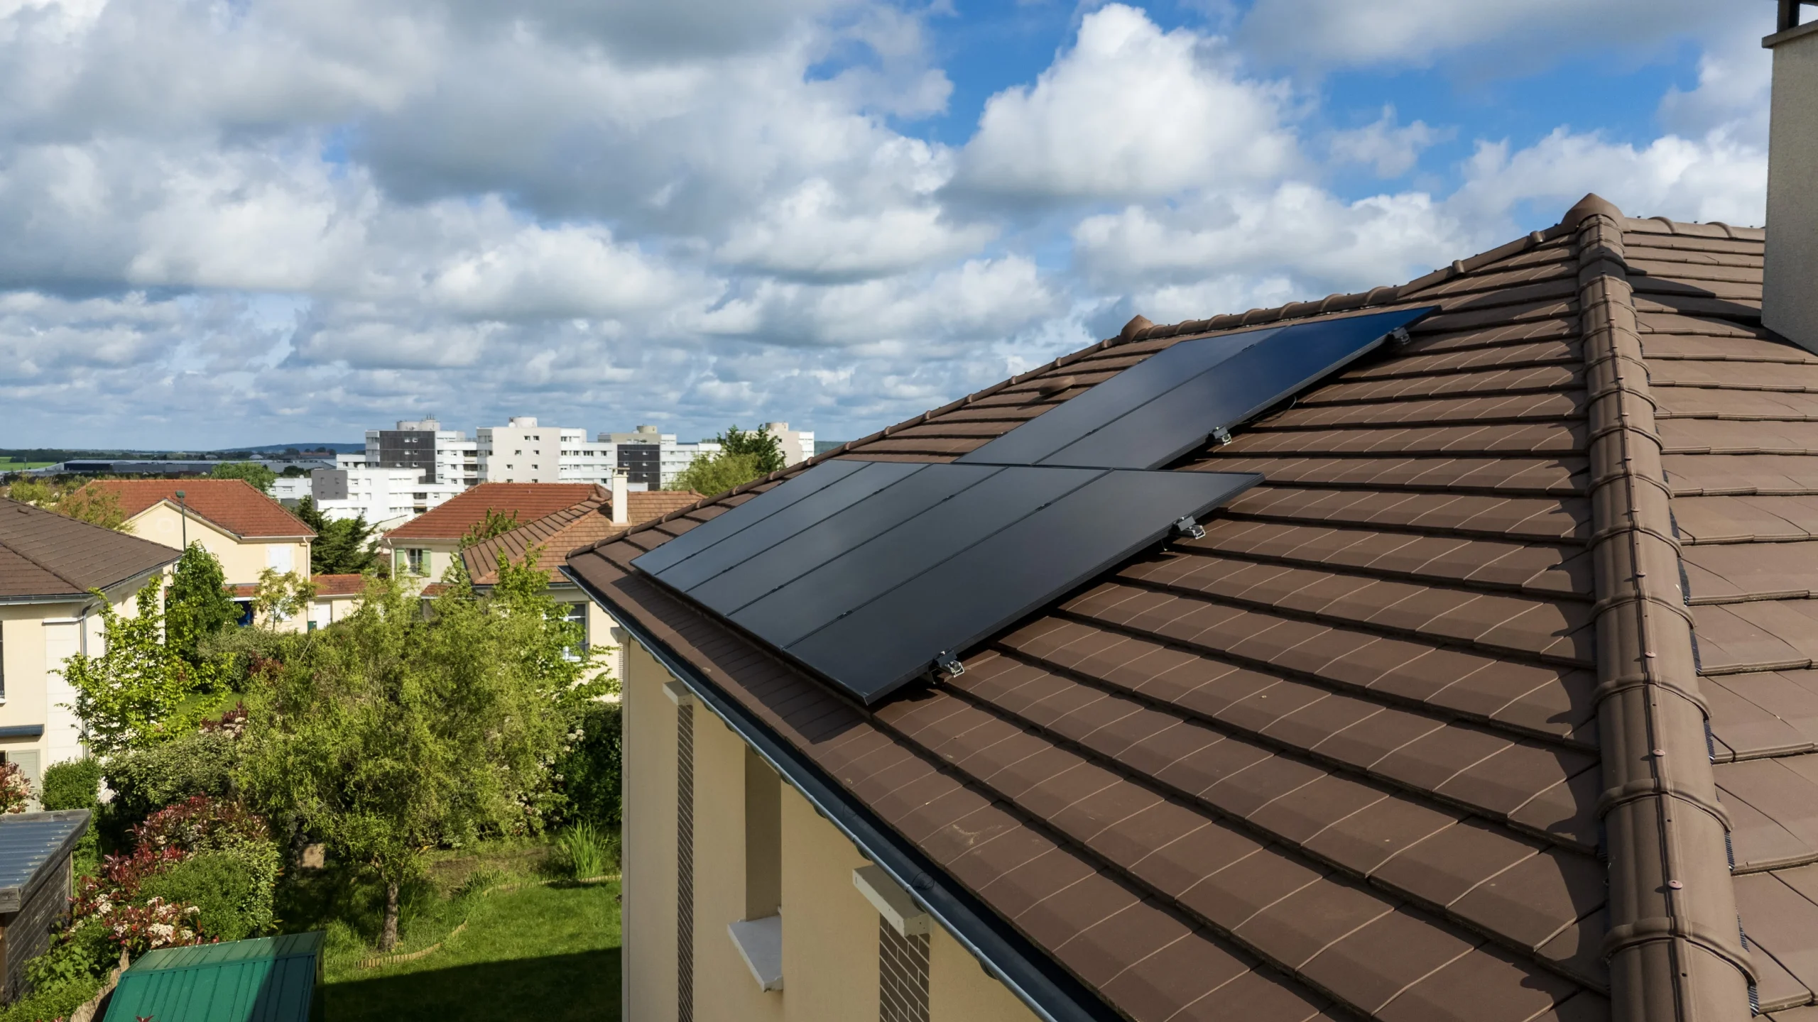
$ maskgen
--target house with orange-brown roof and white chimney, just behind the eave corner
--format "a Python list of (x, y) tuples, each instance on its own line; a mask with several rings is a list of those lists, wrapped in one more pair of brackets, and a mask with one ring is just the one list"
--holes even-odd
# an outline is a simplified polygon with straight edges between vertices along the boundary
[(658, 489), (622, 493), (618, 496), (625, 500), (627, 511), (624, 516), (613, 515), (614, 495), (594, 487), (594, 493), (589, 493), (585, 500), (544, 515), (484, 544), (467, 547), (462, 551), (462, 562), (467, 566), (467, 576), (473, 580), (474, 589), (484, 591), (498, 582), (500, 560), (522, 564), (531, 551), (536, 551), (536, 566), (549, 575), (549, 595), (567, 607), (567, 618), (582, 627), (582, 638), (587, 646), (598, 642), (613, 646), (611, 660), (605, 667), (614, 678), (624, 678), (625, 636), (618, 631), (613, 618), (562, 573), (567, 567), (567, 551), (598, 544), (624, 533), (631, 526), (691, 507), (700, 502), (700, 495)]

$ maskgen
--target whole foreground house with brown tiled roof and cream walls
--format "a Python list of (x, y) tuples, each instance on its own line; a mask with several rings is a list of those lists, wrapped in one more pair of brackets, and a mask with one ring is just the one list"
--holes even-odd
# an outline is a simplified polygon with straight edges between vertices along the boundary
[[(1818, 213), (1814, 165), (1773, 173)], [(625, 1017), (1811, 1020), (1785, 1009), (1818, 1002), (1818, 316), (1763, 327), (1762, 266), (1760, 229), (1587, 196), (1400, 287), (1138, 316), (571, 551), (634, 638)], [(1780, 273), (1771, 322), (1818, 309), (1818, 262)], [(1425, 307), (1336, 369), (1344, 326), (1271, 333)], [(1149, 358), (1251, 342), (1304, 384), (1233, 395), (1214, 362), (1111, 418), (1187, 378)], [(1196, 422), (1184, 456), (1138, 436)], [(1004, 456), (1067, 431), (1104, 444), (1058, 464), (1173, 469), (1129, 487), (1262, 482), (1033, 613), (993, 600), (1071, 555), (1049, 526), (980, 571), (891, 546), (927, 493), (809, 493), (985, 444), (965, 471), (1069, 471), (1029, 460), (1060, 440)], [(871, 536), (873, 575), (827, 560)], [(816, 646), (847, 615), (911, 653), (929, 622), (984, 638), (836, 686), (807, 664), (889, 653)]]

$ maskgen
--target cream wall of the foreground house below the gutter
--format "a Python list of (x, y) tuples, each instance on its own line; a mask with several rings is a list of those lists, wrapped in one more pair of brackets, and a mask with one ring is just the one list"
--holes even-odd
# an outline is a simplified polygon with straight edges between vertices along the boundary
[[(676, 726), (673, 676), (625, 649), (625, 1018), (676, 1018)], [(800, 793), (782, 789), (784, 989), (762, 993), (727, 924), (745, 907), (745, 744), (705, 706), (694, 722), (694, 1020), (878, 1018), (878, 913), (853, 886), (865, 857)], [(1004, 984), (938, 926), (931, 1022), (1033, 1022)]]

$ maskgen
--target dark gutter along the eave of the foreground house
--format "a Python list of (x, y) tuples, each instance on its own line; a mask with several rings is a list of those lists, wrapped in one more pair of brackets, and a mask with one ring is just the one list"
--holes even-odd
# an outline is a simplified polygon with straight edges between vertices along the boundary
[(996, 922), (991, 909), (973, 895), (942, 882), (938, 867), (918, 849), (894, 837), (869, 809), (853, 802), (820, 767), (791, 749), (769, 726), (751, 716), (731, 696), (722, 693), (718, 686), (694, 671), (687, 660), (658, 642), (629, 613), (614, 606), (567, 566), (562, 567), (562, 575), (613, 615), (620, 627), (638, 640), (638, 646), (644, 646), (656, 662), (694, 693), (694, 698), (707, 704), (714, 716), (731, 726), (745, 744), (756, 749), (771, 764), (771, 769), (782, 775), (791, 787), (814, 806), (816, 813), (858, 846), (858, 851), (865, 858), (884, 867), (904, 891), (909, 891), (909, 897), (924, 911), (940, 920), (942, 927), (971, 951), (985, 973), (1009, 987), (1036, 1017), (1044, 1022), (1116, 1022), (1122, 1018), (1047, 955), (1029, 947), (1022, 935), (1016, 935), (1007, 924)]

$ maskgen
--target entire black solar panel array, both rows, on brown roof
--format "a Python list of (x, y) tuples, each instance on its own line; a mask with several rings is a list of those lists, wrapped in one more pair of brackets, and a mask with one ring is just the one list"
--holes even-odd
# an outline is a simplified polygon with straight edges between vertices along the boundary
[(1187, 340), (956, 462), (833, 460), (633, 564), (876, 702), (1262, 482), (1153, 471), (1431, 309)]

